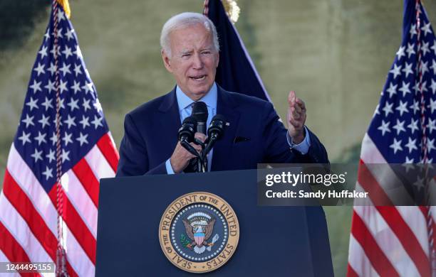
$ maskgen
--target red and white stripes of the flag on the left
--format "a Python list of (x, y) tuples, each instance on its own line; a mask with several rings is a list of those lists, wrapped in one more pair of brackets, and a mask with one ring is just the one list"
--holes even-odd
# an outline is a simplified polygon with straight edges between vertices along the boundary
[[(61, 179), (63, 241), (70, 276), (95, 275), (100, 178), (114, 177), (118, 151), (105, 134)], [(55, 261), (56, 186), (43, 190), (14, 144), (0, 194), (0, 261)]]

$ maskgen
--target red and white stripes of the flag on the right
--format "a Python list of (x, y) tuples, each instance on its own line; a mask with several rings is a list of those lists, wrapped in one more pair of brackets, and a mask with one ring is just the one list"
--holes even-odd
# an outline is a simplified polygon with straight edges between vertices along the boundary
[[(377, 202), (392, 200), (389, 196), (392, 190), (401, 195), (405, 191), (401, 185), (386, 188), (385, 180), (392, 180), (388, 183), (394, 184), (400, 184), (400, 180), (388, 167), (380, 169), (370, 166), (371, 163), (387, 162), (367, 134), (362, 143), (356, 189), (376, 193), (370, 193), (367, 200), (374, 205), (354, 207), (347, 275), (431, 276), (425, 209), (377, 206)], [(385, 193), (385, 190), (390, 192)]]

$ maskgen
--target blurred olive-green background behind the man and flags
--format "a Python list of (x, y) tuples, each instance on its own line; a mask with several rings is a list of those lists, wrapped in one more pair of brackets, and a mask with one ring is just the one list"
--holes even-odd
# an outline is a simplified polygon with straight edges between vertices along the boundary
[[(331, 162), (357, 163), (401, 42), (403, 1), (239, 0), (236, 27), (282, 118), (295, 90)], [(70, 0), (71, 21), (115, 143), (123, 118), (175, 85), (160, 58), (163, 23), (202, 0)], [(436, 2), (424, 1), (430, 21)], [(0, 174), (4, 175), (50, 1), (0, 0)], [(0, 184), (1, 185), (1, 184)], [(351, 207), (325, 207), (336, 276), (345, 276)]]

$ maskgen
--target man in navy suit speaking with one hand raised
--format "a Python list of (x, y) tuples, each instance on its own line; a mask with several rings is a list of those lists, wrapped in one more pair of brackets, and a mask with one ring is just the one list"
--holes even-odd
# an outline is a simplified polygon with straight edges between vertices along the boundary
[[(286, 130), (271, 103), (227, 92), (214, 82), (219, 43), (209, 18), (200, 13), (173, 16), (162, 28), (160, 44), (164, 65), (177, 85), (125, 116), (117, 176), (181, 173), (191, 166), (202, 146), (190, 142), (188, 151), (178, 131), (199, 102), (205, 126), (217, 114), (227, 123), (204, 157), (206, 170), (253, 169), (257, 163), (328, 163), (326, 149), (304, 125), (306, 107), (295, 92), (287, 99)], [(195, 137), (207, 141), (207, 132), (202, 133)]]

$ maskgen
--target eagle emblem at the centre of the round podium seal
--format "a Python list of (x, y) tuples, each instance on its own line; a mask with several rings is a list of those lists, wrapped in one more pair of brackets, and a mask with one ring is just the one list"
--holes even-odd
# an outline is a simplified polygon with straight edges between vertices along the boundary
[(207, 242), (211, 237), (215, 218), (205, 212), (194, 212), (185, 219), (182, 219), (185, 225), (186, 234), (189, 239), (182, 234), (180, 241), (187, 249), (193, 250), (197, 254), (202, 254), (206, 249), (212, 250), (212, 246), (219, 239), (219, 235), (215, 234), (212, 241)]

